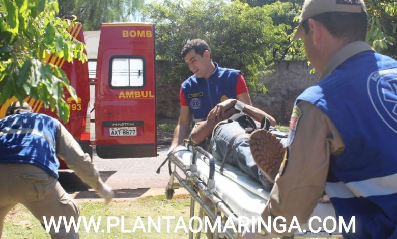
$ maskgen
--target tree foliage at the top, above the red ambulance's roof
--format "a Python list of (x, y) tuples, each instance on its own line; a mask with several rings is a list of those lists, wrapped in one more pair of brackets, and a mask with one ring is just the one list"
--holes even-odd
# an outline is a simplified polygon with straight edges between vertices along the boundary
[(86, 30), (98, 30), (102, 22), (130, 21), (144, 0), (58, 0), (58, 16), (75, 15)]

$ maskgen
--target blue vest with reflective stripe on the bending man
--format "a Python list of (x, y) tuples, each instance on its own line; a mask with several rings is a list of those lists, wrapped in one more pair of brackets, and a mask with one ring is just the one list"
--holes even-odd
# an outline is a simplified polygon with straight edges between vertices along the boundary
[(58, 178), (54, 118), (21, 112), (0, 119), (0, 163), (31, 164)]

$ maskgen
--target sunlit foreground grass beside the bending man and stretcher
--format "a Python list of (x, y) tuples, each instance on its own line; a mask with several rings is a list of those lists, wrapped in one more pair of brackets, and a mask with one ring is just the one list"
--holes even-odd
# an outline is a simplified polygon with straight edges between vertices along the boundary
[[(182, 216), (186, 226), (188, 227), (190, 197), (187, 195), (174, 196), (172, 200), (166, 200), (165, 196), (148, 196), (134, 200), (117, 200), (106, 205), (100, 201), (78, 201), (80, 208), (80, 216), (86, 216), (89, 221), (93, 216), (95, 221), (101, 217), (99, 230), (96, 233), (94, 228), (87, 233), (83, 223), (80, 225), (80, 238), (188, 238), (188, 233), (183, 229), (178, 229), (174, 233), (177, 226), (179, 216)], [(197, 204), (196, 204), (197, 205)], [(198, 215), (198, 207), (196, 206), (196, 215)], [(110, 227), (110, 233), (107, 233), (107, 221), (116, 224), (117, 219), (109, 219), (111, 216), (120, 220), (119, 226)], [(161, 218), (163, 216), (175, 216), (175, 219), (169, 220), (169, 230), (167, 233), (167, 220)], [(124, 217), (124, 229), (128, 232), (122, 232), (121, 221)], [(137, 224), (135, 232), (132, 231), (134, 224), (141, 218), (144, 227), (148, 228), (149, 217), (157, 224), (157, 217), (161, 218), (160, 233), (156, 232), (155, 226), (151, 226), (151, 233), (144, 233), (143, 229)], [(152, 224), (153, 225), (153, 224)], [(181, 225), (181, 224), (180, 224)], [(104, 232), (102, 232), (104, 229)], [(202, 235), (205, 238), (205, 235)], [(23, 206), (18, 204), (8, 213), (4, 228), (3, 237), (6, 238), (50, 238), (40, 222)]]

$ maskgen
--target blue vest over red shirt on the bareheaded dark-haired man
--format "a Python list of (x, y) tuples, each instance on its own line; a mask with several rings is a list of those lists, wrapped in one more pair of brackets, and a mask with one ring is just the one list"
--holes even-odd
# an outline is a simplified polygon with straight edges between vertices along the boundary
[(215, 71), (208, 80), (192, 75), (181, 85), (194, 123), (206, 118), (218, 103), (229, 98), (236, 99), (237, 76), (241, 72), (214, 64)]

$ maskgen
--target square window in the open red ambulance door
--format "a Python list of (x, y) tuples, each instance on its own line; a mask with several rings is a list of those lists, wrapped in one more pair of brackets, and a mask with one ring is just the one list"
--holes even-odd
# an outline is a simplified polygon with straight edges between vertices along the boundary
[(139, 58), (113, 58), (111, 86), (141, 87), (144, 85), (144, 61)]

